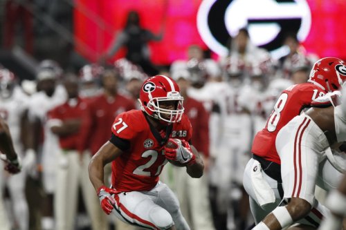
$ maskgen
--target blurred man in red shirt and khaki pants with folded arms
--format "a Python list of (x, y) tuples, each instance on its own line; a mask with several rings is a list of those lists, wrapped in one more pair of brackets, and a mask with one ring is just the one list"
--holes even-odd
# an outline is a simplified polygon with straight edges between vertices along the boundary
[(75, 75), (64, 77), (68, 99), (64, 104), (48, 112), (47, 124), (59, 137), (62, 153), (57, 157), (57, 186), (55, 189), (54, 213), (56, 230), (72, 230), (78, 207), (78, 189), (81, 188), (86, 211), (94, 230), (107, 229), (105, 216), (93, 194), (88, 178), (88, 164), (91, 159), (87, 141), (91, 116), (86, 99), (80, 96), (78, 79)]

